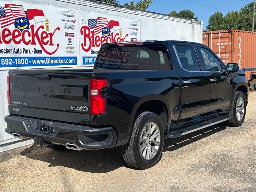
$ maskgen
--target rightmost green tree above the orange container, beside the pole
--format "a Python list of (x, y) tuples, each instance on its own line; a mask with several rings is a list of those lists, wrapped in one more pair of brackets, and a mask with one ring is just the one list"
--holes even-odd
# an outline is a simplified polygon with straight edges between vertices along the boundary
[(239, 16), (236, 20), (236, 29), (239, 30), (252, 30), (252, 17), (253, 17), (253, 2), (243, 6), (239, 12)]

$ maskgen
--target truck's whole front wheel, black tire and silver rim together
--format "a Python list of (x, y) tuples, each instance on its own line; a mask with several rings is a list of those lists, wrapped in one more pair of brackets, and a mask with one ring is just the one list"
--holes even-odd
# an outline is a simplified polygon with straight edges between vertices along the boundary
[(228, 120), (228, 126), (238, 127), (244, 122), (246, 114), (246, 98), (241, 91), (237, 91), (234, 96), (234, 101), (231, 107), (231, 118)]

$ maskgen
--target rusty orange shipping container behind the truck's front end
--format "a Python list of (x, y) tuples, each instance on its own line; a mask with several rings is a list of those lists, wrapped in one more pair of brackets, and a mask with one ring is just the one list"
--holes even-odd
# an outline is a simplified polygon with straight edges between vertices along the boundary
[[(235, 29), (203, 32), (203, 44), (210, 47), (227, 63), (238, 63), (241, 68), (256, 67), (256, 32)], [(246, 72), (247, 80), (250, 72)]]

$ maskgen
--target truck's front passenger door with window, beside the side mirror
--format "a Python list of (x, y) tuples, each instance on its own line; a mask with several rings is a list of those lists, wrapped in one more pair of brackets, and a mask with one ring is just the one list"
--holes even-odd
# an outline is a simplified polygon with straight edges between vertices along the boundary
[(228, 111), (232, 103), (232, 86), (228, 83), (226, 66), (208, 47), (198, 46), (198, 52), (209, 75), (209, 111), (213, 114)]

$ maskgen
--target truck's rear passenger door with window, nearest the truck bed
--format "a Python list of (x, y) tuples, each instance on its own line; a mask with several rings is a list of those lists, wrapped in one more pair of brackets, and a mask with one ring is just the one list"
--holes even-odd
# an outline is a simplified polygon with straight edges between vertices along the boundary
[(179, 43), (174, 44), (173, 48), (182, 86), (182, 119), (200, 118), (208, 112), (209, 107), (208, 73), (199, 62), (198, 50), (194, 44)]

